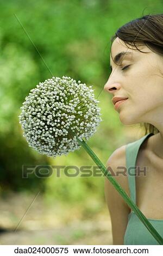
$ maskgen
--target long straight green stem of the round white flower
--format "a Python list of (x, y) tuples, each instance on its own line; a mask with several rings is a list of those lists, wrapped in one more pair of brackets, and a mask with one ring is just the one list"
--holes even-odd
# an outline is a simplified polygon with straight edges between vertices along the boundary
[(98, 157), (96, 156), (96, 154), (91, 150), (91, 148), (89, 147), (89, 145), (86, 144), (86, 142), (82, 139), (82, 141), (80, 141), (77, 138), (77, 141), (80, 145), (82, 145), (82, 147), (87, 151), (87, 153), (91, 156), (92, 160), (97, 164), (97, 166), (102, 170), (103, 174), (109, 179), (109, 181), (112, 183), (112, 185), (114, 185), (114, 187), (116, 188), (116, 190), (118, 191), (118, 193), (121, 194), (121, 196), (123, 197), (124, 201), (130, 206), (130, 208), (135, 212), (135, 214), (137, 215), (137, 217), (140, 218), (140, 220), (142, 221), (142, 223), (146, 226), (146, 228), (149, 230), (149, 232), (154, 236), (154, 238), (156, 239), (156, 241), (159, 242), (160, 245), (163, 245), (163, 238), (160, 236), (160, 234), (158, 233), (158, 231), (156, 231), (156, 229), (153, 227), (153, 225), (147, 220), (147, 218), (145, 217), (145, 215), (143, 215), (143, 213), (139, 210), (139, 208), (137, 208), (136, 204), (133, 202), (133, 200), (130, 199), (130, 197), (128, 196), (128, 194), (121, 188), (120, 184), (118, 184), (118, 182), (116, 181), (115, 178), (112, 177), (112, 175), (109, 173), (109, 171), (105, 168), (105, 166), (103, 165), (103, 163), (98, 159)]

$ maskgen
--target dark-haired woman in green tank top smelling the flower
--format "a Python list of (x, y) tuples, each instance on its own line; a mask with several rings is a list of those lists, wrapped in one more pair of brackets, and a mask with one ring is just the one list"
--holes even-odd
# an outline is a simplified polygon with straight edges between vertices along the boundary
[[(163, 237), (162, 32), (163, 14), (146, 15), (119, 28), (111, 39), (111, 75), (104, 90), (112, 94), (124, 125), (146, 128), (145, 136), (116, 149), (106, 167)], [(126, 175), (120, 174), (122, 167)], [(105, 198), (114, 245), (159, 244), (107, 178)]]

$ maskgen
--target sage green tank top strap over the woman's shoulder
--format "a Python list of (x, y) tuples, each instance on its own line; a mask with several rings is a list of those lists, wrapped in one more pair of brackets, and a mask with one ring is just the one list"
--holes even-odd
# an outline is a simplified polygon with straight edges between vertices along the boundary
[(139, 151), (139, 148), (143, 141), (147, 137), (154, 135), (154, 133), (148, 133), (147, 135), (143, 136), (142, 138), (138, 139), (137, 141), (128, 143), (126, 145), (126, 168), (127, 168), (127, 176), (128, 176), (128, 184), (130, 190), (130, 198), (136, 204), (136, 187), (135, 187), (135, 163), (136, 157)]

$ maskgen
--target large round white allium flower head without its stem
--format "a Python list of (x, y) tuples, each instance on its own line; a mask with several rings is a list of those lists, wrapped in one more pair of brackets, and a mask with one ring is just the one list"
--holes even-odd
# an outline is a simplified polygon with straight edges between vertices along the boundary
[(47, 156), (67, 155), (89, 139), (102, 121), (92, 86), (52, 77), (30, 90), (19, 115), (29, 147)]

